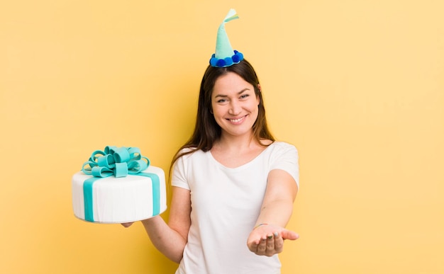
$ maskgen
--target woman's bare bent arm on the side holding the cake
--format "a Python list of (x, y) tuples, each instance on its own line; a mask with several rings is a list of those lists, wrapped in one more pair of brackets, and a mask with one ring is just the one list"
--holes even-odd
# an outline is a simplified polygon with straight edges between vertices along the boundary
[[(152, 244), (170, 260), (182, 260), (191, 225), (191, 199), (189, 190), (172, 187), (172, 201), (168, 224), (160, 216), (142, 221)], [(128, 224), (123, 224), (128, 227)]]

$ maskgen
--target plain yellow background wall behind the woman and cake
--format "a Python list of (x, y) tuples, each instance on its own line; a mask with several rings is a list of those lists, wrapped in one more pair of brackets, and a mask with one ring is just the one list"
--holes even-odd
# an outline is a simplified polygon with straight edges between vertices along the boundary
[(174, 273), (140, 223), (76, 219), (70, 180), (106, 145), (169, 169), (231, 7), (301, 157), (282, 274), (444, 273), (443, 3), (4, 1), (0, 273)]

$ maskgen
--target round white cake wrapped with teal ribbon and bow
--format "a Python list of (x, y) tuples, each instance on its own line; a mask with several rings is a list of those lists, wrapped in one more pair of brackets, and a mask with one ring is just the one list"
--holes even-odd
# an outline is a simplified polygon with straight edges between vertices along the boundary
[(74, 215), (87, 222), (148, 219), (167, 209), (165, 173), (137, 147), (96, 150), (72, 176)]

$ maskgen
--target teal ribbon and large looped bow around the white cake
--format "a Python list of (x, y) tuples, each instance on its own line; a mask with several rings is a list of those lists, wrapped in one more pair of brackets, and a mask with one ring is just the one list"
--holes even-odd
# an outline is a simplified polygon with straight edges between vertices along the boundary
[(150, 166), (150, 159), (140, 154), (137, 147), (107, 146), (96, 150), (82, 166), (82, 171), (93, 177), (83, 183), (85, 220), (94, 222), (93, 185), (101, 178), (128, 175), (145, 176), (152, 181), (152, 215), (160, 214), (160, 180), (155, 173), (142, 172)]

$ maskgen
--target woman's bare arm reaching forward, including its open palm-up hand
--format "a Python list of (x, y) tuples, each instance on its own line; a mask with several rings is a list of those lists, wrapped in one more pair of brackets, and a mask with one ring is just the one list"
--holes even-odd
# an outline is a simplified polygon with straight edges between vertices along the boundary
[(289, 173), (280, 169), (270, 171), (260, 215), (248, 237), (250, 251), (272, 256), (282, 252), (284, 239), (299, 238), (298, 234), (284, 228), (292, 216), (297, 191), (296, 181)]

